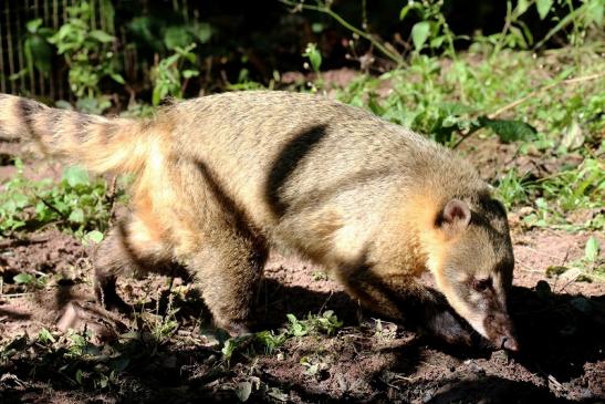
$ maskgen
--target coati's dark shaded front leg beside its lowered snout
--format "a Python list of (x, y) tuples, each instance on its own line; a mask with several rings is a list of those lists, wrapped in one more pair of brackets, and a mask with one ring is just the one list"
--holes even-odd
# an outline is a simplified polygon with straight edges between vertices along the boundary
[(471, 344), (471, 335), (444, 296), (411, 274), (387, 272), (377, 266), (338, 271), (347, 292), (373, 312), (404, 320), (452, 344)]

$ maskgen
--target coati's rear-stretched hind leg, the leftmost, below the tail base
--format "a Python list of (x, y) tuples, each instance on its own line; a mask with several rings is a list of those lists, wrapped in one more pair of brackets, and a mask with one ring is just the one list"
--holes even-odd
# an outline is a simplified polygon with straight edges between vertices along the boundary
[(171, 265), (169, 250), (145, 222), (131, 215), (109, 231), (95, 253), (96, 299), (106, 309), (129, 311), (131, 307), (116, 292), (117, 277), (157, 272)]

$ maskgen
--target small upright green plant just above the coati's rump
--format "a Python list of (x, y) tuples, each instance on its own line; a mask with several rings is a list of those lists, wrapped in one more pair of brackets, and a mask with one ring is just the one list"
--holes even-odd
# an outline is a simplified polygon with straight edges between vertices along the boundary
[[(197, 55), (192, 52), (196, 46), (196, 43), (185, 48), (175, 46), (175, 53), (160, 60), (154, 68), (152, 72), (154, 105), (159, 105), (168, 95), (182, 99), (189, 80), (199, 75), (199, 71), (195, 69)], [(186, 69), (187, 65), (189, 69)]]

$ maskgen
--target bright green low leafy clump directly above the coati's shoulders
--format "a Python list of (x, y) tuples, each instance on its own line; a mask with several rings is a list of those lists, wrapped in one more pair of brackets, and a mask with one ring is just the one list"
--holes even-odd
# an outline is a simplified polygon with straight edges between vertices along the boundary
[[(484, 92), (472, 93), (480, 85), (484, 87), (480, 83), (484, 77), (471, 73), (465, 61), (455, 62), (451, 69), (450, 74), (444, 74), (436, 58), (418, 55), (406, 70), (394, 70), (378, 79), (361, 76), (342, 90), (338, 99), (451, 146), (481, 128), (492, 131), (505, 143), (535, 135), (535, 130), (525, 122), (490, 116), (482, 108), (482, 104), (488, 104), (486, 100), (471, 102), (477, 95), (486, 99)], [(383, 99), (375, 93), (382, 82), (393, 87)], [(493, 103), (496, 99), (489, 101)]]

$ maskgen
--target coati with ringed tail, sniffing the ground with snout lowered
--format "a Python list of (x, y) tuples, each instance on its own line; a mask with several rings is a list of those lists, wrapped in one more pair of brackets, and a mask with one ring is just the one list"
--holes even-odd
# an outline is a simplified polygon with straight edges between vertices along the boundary
[[(518, 349), (504, 208), (452, 152), (361, 108), (251, 91), (129, 120), (0, 95), (0, 135), (136, 178), (132, 211), (96, 258), (106, 305), (121, 301), (125, 270), (181, 265), (216, 323), (246, 332), (277, 246), (331, 269), (374, 312), (468, 343), (459, 314), (497, 348)], [(417, 280), (425, 270), (438, 291)]]

